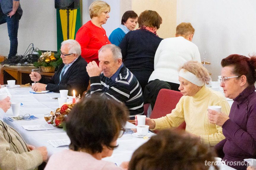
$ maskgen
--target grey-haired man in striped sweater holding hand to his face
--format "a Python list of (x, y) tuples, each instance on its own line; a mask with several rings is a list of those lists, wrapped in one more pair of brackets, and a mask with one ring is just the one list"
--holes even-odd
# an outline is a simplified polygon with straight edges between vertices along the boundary
[(141, 86), (136, 77), (122, 62), (122, 53), (118, 46), (107, 44), (98, 51), (99, 66), (90, 62), (86, 70), (90, 76), (90, 90), (86, 96), (101, 93), (123, 102), (130, 111), (130, 119), (143, 114)]

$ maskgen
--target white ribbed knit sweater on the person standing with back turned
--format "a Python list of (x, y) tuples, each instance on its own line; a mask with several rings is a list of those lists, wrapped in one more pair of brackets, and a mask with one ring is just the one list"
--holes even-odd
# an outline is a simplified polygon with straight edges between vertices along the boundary
[(149, 81), (159, 79), (179, 84), (178, 69), (190, 60), (201, 63), (198, 47), (194, 43), (182, 36), (162, 40), (155, 53), (154, 71)]

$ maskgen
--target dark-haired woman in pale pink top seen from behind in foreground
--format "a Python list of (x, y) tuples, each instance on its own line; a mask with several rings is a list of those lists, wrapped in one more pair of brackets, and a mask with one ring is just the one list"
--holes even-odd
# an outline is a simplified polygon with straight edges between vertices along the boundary
[(111, 156), (117, 147), (127, 116), (123, 103), (105, 96), (92, 95), (78, 102), (66, 122), (69, 150), (53, 154), (45, 169), (122, 169), (101, 158)]

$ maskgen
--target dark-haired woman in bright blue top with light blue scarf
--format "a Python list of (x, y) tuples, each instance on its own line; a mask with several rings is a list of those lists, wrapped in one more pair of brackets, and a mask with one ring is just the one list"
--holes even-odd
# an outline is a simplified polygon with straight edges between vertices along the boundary
[(126, 11), (123, 14), (121, 25), (109, 35), (109, 41), (116, 46), (124, 38), (125, 34), (134, 30), (138, 22), (138, 15), (134, 11)]

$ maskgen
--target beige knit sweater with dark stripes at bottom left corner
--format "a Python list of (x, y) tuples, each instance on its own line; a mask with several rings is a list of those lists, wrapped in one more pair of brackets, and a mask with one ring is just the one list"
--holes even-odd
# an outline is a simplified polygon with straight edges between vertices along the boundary
[(0, 169), (37, 169), (41, 163), (41, 153), (29, 151), (18, 132), (0, 120)]

